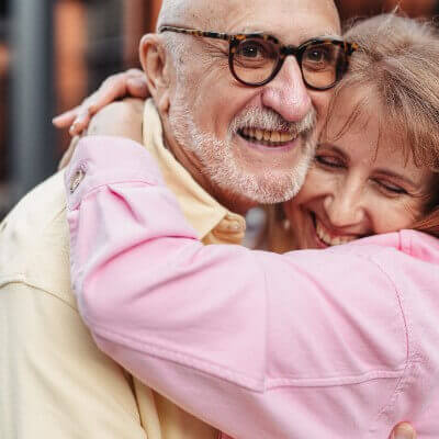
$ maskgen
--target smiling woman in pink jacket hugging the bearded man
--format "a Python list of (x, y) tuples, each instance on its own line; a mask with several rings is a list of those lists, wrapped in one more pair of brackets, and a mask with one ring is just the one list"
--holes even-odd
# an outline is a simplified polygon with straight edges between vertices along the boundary
[(438, 233), (438, 37), (394, 16), (348, 37), (361, 49), (284, 209), (297, 248), (337, 247), (202, 247), (135, 144), (86, 140), (67, 171), (72, 279), (98, 345), (235, 438), (376, 438), (404, 417), (439, 435), (439, 243), (396, 233)]

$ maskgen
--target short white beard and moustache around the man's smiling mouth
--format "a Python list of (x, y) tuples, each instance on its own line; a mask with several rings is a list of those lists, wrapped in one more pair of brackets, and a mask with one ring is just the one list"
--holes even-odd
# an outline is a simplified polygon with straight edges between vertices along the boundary
[[(217, 185), (225, 193), (229, 193), (230, 196), (237, 195), (260, 204), (284, 202), (300, 191), (316, 148), (314, 110), (299, 124), (290, 124), (284, 121), (282, 123), (283, 128), (285, 128), (286, 123), (301, 133), (302, 145), (299, 147), (302, 148), (302, 154), (297, 158), (297, 164), (289, 171), (267, 169), (262, 173), (252, 173), (243, 169), (236, 162), (232, 136), (236, 133), (239, 124), (243, 126), (243, 124), (245, 125), (255, 119), (258, 119), (259, 126), (262, 124), (269, 130), (269, 126), (273, 126), (273, 115), (270, 115), (270, 113), (274, 112), (259, 109), (247, 110), (245, 114), (238, 115), (236, 121), (233, 122), (227, 139), (222, 140), (211, 133), (200, 131), (188, 108), (187, 102), (189, 101), (182, 94), (184, 93), (181, 93), (180, 99), (171, 105), (169, 124), (176, 140), (181, 147), (195, 155), (202, 166), (200, 170), (212, 184)], [(261, 113), (264, 113), (264, 115)], [(278, 120), (281, 119), (277, 113), (274, 114)], [(277, 126), (279, 126), (279, 122)], [(278, 130), (282, 127), (279, 126)]]

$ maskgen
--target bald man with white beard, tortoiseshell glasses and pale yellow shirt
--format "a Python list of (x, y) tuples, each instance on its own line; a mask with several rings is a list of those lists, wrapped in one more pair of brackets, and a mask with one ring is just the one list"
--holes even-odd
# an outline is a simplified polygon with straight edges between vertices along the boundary
[[(240, 214), (293, 196), (304, 179), (329, 99), (320, 90), (349, 50), (336, 9), (330, 0), (269, 9), (262, 0), (168, 0), (159, 24), (140, 46), (153, 94), (143, 140), (204, 243), (239, 244)], [(289, 46), (241, 35), (261, 31)], [(306, 42), (316, 37), (334, 40), (341, 64), (327, 66), (329, 76), (311, 75), (322, 52)], [(261, 59), (271, 63), (255, 76)], [(0, 225), (0, 288), (1, 438), (218, 436), (95, 348), (70, 290), (61, 173)]]

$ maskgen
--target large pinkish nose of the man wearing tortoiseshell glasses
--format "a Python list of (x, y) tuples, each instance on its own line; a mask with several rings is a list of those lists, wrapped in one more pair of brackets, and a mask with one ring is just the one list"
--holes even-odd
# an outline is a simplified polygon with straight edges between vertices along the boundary
[(289, 56), (278, 76), (266, 86), (262, 104), (289, 122), (300, 122), (309, 113), (312, 101), (294, 57)]

